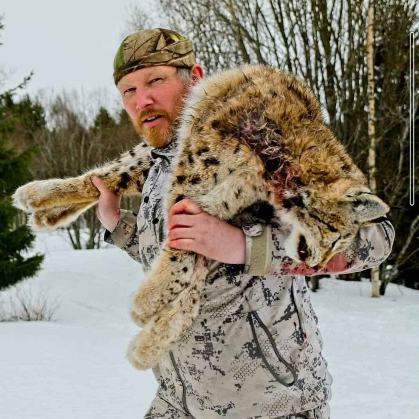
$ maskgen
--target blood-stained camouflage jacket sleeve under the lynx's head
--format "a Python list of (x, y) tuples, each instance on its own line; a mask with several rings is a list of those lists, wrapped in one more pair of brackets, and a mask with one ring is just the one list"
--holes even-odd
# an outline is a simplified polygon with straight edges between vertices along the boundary
[(256, 225), (245, 229), (246, 262), (244, 272), (249, 275), (305, 275), (347, 274), (363, 271), (381, 264), (391, 252), (394, 228), (388, 219), (362, 227), (354, 241), (343, 252), (336, 254), (325, 268), (313, 269), (298, 264), (285, 255), (282, 245), (286, 232), (273, 225)]

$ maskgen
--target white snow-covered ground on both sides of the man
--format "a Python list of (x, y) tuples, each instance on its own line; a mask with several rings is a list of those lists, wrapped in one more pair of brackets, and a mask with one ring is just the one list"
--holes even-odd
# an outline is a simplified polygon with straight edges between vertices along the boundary
[[(73, 251), (60, 233), (39, 235), (36, 250), (45, 261), (23, 289), (48, 295), (56, 320), (0, 323), (0, 418), (141, 419), (156, 384), (124, 359), (140, 264), (116, 248)], [(419, 291), (369, 293), (366, 282), (322, 279), (312, 295), (334, 378), (331, 418), (416, 419)]]

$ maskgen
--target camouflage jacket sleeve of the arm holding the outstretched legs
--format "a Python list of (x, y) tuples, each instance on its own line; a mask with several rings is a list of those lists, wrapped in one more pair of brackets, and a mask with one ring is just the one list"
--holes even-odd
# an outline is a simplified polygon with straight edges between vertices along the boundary
[(134, 212), (121, 209), (119, 211), (118, 224), (112, 232), (105, 231), (103, 240), (127, 252), (135, 261), (141, 262), (137, 214)]

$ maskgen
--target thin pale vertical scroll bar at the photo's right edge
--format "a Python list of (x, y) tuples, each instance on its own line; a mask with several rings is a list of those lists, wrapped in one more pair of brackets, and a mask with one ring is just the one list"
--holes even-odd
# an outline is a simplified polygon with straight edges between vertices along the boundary
[[(413, 53), (412, 53), (413, 50)], [(412, 77), (413, 71), (413, 77)], [(409, 204), (415, 204), (415, 33), (409, 32)], [(413, 110), (413, 111), (412, 111)]]

